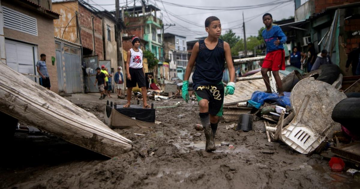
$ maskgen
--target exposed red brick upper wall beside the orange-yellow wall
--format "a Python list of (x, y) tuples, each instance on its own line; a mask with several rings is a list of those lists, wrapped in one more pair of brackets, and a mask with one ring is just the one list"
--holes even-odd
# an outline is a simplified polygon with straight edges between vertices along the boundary
[(94, 50), (93, 46), (93, 24), (91, 16), (94, 16), (95, 31), (95, 54), (99, 56), (99, 60), (104, 60), (103, 46), (103, 28), (102, 19), (91, 13), (84, 6), (79, 5), (79, 24), (81, 27), (81, 41), (85, 48)]

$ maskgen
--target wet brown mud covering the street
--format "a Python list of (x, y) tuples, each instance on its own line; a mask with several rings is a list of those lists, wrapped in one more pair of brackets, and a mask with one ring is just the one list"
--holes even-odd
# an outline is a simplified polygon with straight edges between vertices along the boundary
[[(103, 120), (106, 100), (95, 94), (67, 99)], [(194, 129), (200, 123), (197, 103), (149, 102), (180, 105), (157, 109), (161, 123), (150, 129), (116, 129), (134, 142), (134, 150), (111, 159), (51, 135), (17, 133), (2, 150), (0, 188), (360, 188), (350, 174), (331, 171), (318, 154), (267, 142), (261, 128), (226, 130), (232, 123), (221, 122), (217, 150), (207, 153), (203, 132)], [(220, 146), (222, 141), (234, 148)]]

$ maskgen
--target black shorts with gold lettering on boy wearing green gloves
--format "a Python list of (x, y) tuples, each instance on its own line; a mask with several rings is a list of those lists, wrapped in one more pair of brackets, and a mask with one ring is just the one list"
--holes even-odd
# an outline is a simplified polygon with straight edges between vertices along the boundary
[(209, 114), (212, 116), (222, 116), (222, 106), (224, 104), (224, 85), (198, 86), (194, 89), (198, 102), (202, 99), (209, 101)]

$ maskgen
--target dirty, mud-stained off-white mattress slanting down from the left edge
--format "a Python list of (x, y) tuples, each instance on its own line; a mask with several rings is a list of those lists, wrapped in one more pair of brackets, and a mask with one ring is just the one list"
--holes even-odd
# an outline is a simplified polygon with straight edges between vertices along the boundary
[(132, 142), (94, 114), (0, 63), (0, 111), (73, 144), (108, 157), (132, 149)]

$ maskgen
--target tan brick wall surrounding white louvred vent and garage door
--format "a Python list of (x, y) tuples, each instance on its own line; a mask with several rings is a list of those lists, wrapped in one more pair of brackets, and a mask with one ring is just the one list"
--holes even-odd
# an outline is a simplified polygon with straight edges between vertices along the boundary
[(51, 91), (58, 93), (59, 89), (56, 61), (54, 65), (51, 64), (51, 57), (56, 57), (53, 19), (49, 19), (47, 17), (44, 17), (44, 15), (37, 14), (34, 11), (21, 8), (17, 5), (8, 4), (6, 2), (1, 2), (1, 4), (11, 9), (17, 10), (18, 12), (36, 18), (38, 32), (37, 36), (15, 30), (10, 30), (8, 28), (4, 28), (4, 36), (6, 39), (19, 40), (24, 43), (29, 43), (37, 46), (37, 60), (40, 60), (40, 54), (46, 54), (46, 67), (48, 68), (49, 72)]

